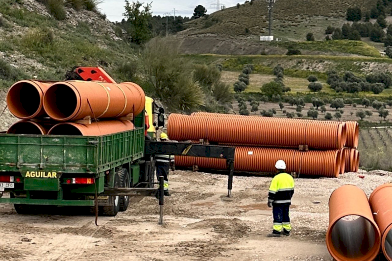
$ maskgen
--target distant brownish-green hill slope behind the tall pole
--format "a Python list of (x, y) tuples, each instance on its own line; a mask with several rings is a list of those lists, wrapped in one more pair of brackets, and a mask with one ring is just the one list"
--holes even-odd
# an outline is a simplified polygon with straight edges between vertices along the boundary
[[(347, 23), (347, 7), (359, 5), (365, 11), (375, 2), (277, 0), (273, 9), (273, 34), (283, 41), (305, 41), (306, 34), (312, 32), (316, 40), (324, 40), (327, 26), (341, 27)], [(239, 8), (226, 8), (185, 26), (187, 29), (177, 35), (185, 53), (260, 54), (266, 51), (267, 54), (283, 54), (287, 51), (287, 48), (260, 43), (260, 35), (267, 35), (269, 26), (267, 3), (261, 0), (241, 4)]]

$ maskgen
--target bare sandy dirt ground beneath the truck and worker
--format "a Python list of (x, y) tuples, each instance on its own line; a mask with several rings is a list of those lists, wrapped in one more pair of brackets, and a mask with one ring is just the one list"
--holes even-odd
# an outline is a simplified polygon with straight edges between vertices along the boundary
[[(171, 174), (164, 225), (155, 198), (133, 199), (116, 217), (78, 214), (19, 215), (0, 206), (0, 260), (7, 261), (330, 261), (325, 246), (330, 193), (355, 184), (369, 195), (392, 182), (392, 173), (347, 173), (339, 179), (299, 178), (291, 208), (293, 235), (267, 238), (271, 177), (227, 176), (191, 171)], [(7, 195), (4, 195), (7, 196)], [(75, 215), (70, 215), (75, 214)]]

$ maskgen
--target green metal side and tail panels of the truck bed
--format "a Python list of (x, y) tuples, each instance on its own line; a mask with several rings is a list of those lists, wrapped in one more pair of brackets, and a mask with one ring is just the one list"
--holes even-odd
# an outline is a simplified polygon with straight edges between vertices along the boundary
[(98, 174), (144, 156), (144, 128), (105, 136), (0, 134), (0, 172)]

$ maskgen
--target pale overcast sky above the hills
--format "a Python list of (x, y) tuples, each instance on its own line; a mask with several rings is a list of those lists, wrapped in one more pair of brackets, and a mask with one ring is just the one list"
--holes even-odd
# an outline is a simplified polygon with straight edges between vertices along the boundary
[[(151, 0), (140, 0), (141, 2), (151, 2)], [(245, 0), (244, 0), (245, 1)], [(242, 1), (242, 2), (244, 2)], [(132, 2), (132, 0), (129, 0)], [(234, 6), (238, 3), (238, 0), (220, 0), (221, 4), (224, 4), (226, 7)], [(152, 15), (163, 15), (165, 13), (174, 14), (179, 16), (188, 16), (191, 17), (193, 15), (193, 10), (199, 4), (203, 5), (207, 9), (207, 13), (212, 13), (216, 11), (216, 6), (212, 6), (212, 4), (216, 4), (217, 0), (153, 0), (152, 1)], [(99, 4), (99, 8), (101, 12), (107, 15), (107, 18), (112, 21), (121, 21), (123, 19), (124, 13), (124, 5), (125, 0), (104, 0), (103, 3)]]

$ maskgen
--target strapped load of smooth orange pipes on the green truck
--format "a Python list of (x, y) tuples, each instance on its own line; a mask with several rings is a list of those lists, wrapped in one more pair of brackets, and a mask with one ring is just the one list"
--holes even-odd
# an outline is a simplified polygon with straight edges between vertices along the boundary
[(7, 94), (9, 111), (22, 119), (9, 134), (102, 136), (134, 128), (146, 97), (140, 86), (86, 81), (19, 81)]

